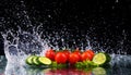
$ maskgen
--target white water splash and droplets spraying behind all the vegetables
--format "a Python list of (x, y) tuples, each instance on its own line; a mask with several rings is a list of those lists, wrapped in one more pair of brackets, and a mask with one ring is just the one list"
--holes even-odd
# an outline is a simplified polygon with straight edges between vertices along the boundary
[[(14, 23), (14, 25), (20, 25), (16, 27), (17, 30), (10, 28), (1, 33), (4, 39), (4, 53), (9, 63), (23, 64), (26, 57), (31, 54), (44, 55), (45, 51), (50, 48), (55, 50), (73, 50), (79, 47), (81, 50), (93, 49), (95, 52), (111, 51), (112, 57), (115, 53), (114, 51), (117, 49), (119, 54), (127, 54), (127, 52), (122, 50), (124, 40), (127, 40), (124, 30), (123, 38), (118, 41), (116, 48), (107, 46), (109, 39), (103, 42), (107, 46), (104, 47), (95, 40), (96, 37), (91, 38), (88, 36), (88, 33), (92, 33), (88, 30), (86, 34), (82, 34), (78, 28), (74, 28), (75, 33), (80, 33), (80, 35), (78, 35), (74, 30), (68, 29), (67, 26), (63, 26), (61, 29), (55, 29), (56, 27), (53, 27), (53, 29), (44, 27), (44, 23), (34, 26), (25, 9), (24, 1), (21, 1), (21, 4), (16, 5), (16, 12), (13, 12), (13, 15), (20, 20), (19, 24)], [(10, 22), (7, 23), (10, 24)], [(26, 30), (22, 29), (23, 27), (21, 26), (25, 26)], [(3, 28), (4, 27), (5, 25), (3, 24)], [(93, 28), (91, 30), (93, 30)]]

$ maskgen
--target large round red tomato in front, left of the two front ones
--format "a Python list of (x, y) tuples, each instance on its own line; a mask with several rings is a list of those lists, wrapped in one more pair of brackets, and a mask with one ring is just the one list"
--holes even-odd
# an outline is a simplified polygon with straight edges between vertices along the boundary
[(67, 55), (63, 52), (57, 52), (55, 57), (55, 61), (57, 63), (66, 63), (68, 60)]

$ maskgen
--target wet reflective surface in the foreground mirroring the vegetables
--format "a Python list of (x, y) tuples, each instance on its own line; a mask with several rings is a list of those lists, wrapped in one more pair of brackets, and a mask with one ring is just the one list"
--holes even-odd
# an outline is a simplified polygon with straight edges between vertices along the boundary
[(5, 57), (0, 62), (0, 75), (130, 75), (131, 55), (115, 55), (110, 67), (94, 68), (45, 68), (7, 63)]

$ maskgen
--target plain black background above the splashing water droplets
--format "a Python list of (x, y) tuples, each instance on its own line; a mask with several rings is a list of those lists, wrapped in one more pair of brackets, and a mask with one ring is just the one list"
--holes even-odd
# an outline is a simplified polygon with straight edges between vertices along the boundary
[[(15, 16), (15, 12), (21, 10), (16, 10), (15, 7), (22, 5), (23, 2), (32, 24), (43, 23), (47, 30), (61, 29), (63, 26), (72, 29), (74, 34), (79, 34), (75, 33), (75, 28), (83, 34), (92, 30), (92, 34), (88, 34), (91, 37), (97, 37), (97, 41), (110, 39), (114, 45), (112, 45), (112, 48), (117, 45), (118, 36), (123, 37), (124, 32), (127, 36), (124, 45), (128, 47), (126, 49), (131, 54), (130, 0), (2, 0), (0, 2), (1, 32), (7, 28), (16, 29), (14, 23), (19, 24), (21, 20)], [(19, 25), (23, 29), (28, 27), (21, 23)], [(0, 54), (3, 54), (2, 37), (0, 40)]]

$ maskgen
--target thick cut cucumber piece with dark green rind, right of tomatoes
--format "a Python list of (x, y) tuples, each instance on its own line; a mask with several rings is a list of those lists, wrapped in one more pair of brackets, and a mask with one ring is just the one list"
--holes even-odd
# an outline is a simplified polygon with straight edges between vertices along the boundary
[(110, 62), (110, 55), (104, 52), (97, 53), (94, 55), (93, 62), (97, 65), (103, 65)]

